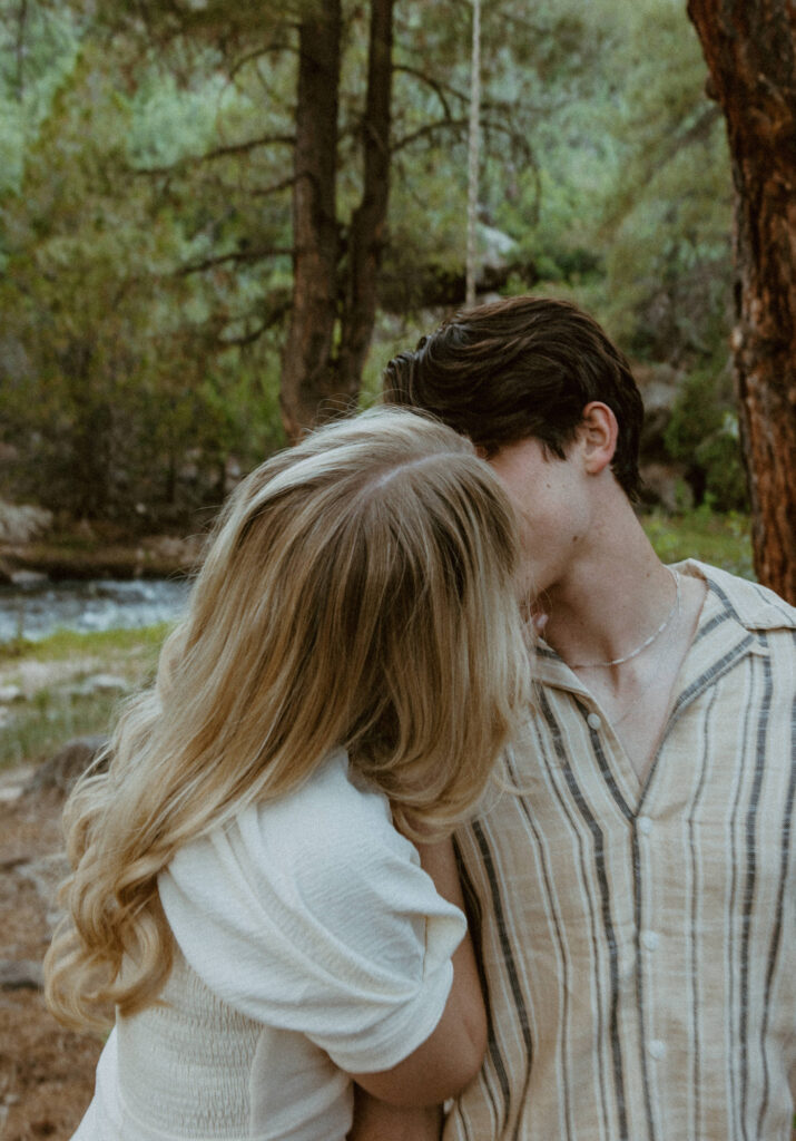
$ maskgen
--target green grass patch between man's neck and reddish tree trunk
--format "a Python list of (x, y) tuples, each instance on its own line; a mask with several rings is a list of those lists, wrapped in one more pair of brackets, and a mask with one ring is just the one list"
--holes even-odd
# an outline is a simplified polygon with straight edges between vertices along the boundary
[(718, 515), (699, 507), (677, 516), (652, 512), (642, 516), (641, 524), (664, 563), (699, 559), (755, 581), (750, 526), (746, 516)]

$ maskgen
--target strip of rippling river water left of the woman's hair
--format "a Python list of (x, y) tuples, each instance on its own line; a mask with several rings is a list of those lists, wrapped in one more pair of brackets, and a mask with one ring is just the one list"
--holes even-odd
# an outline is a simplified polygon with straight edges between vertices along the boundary
[(40, 641), (56, 630), (89, 632), (171, 622), (184, 609), (188, 589), (186, 578), (0, 586), (0, 644), (18, 637)]

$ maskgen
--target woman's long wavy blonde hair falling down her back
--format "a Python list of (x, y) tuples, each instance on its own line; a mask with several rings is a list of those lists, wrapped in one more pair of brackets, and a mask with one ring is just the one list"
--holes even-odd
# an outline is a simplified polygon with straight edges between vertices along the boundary
[(225, 505), (154, 687), (65, 809), (47, 1001), (100, 1028), (157, 1000), (157, 875), (339, 746), (409, 835), (470, 812), (528, 693), (510, 503), (472, 445), (381, 408), (317, 430)]

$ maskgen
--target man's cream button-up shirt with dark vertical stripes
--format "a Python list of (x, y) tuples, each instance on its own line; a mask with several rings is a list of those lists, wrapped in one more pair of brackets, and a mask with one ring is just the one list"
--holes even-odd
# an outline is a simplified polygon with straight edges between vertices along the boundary
[(445, 1141), (790, 1138), (796, 610), (708, 581), (645, 782), (541, 648), (528, 741), (456, 836), (489, 996)]

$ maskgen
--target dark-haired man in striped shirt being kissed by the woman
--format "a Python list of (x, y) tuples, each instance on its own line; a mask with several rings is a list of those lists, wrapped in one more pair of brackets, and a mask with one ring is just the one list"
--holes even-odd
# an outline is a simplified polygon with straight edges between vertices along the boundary
[(796, 610), (659, 561), (632, 507), (641, 397), (576, 307), (461, 314), (384, 389), (503, 478), (543, 633), (519, 791), (456, 836), (490, 1036), (445, 1141), (786, 1141)]

